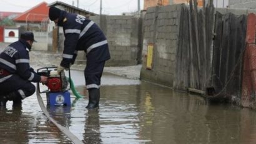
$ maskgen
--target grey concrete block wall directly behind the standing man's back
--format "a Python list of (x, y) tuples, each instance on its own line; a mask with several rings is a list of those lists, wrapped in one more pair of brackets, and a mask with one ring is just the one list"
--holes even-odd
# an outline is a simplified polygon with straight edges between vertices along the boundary
[(141, 47), (140, 18), (134, 16), (91, 16), (107, 37), (111, 60), (108, 66), (136, 65)]

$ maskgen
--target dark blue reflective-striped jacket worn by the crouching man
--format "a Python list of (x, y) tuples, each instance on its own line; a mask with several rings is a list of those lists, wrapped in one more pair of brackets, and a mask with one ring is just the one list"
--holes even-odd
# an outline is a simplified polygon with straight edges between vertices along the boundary
[(31, 47), (24, 40), (10, 44), (0, 54), (0, 68), (7, 70), (11, 75), (3, 77), (0, 82), (9, 79), (13, 74), (31, 82), (39, 82), (41, 77), (29, 65), (29, 50)]

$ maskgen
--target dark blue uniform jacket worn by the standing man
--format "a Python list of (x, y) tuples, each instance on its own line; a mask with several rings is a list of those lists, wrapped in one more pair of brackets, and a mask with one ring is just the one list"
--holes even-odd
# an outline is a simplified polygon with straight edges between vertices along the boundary
[(107, 39), (93, 21), (79, 14), (62, 11), (58, 25), (63, 26), (65, 36), (62, 67), (74, 64), (77, 50), (84, 50), (87, 60), (94, 62), (111, 58)]

